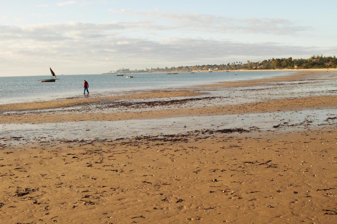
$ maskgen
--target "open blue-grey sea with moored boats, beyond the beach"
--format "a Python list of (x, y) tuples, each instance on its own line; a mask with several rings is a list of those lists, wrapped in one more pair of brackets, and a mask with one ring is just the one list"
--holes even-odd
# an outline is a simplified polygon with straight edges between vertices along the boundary
[[(91, 75), (58, 75), (56, 82), (41, 82), (50, 76), (15, 76), (0, 77), (0, 104), (26, 102), (33, 100), (56, 99), (83, 95), (83, 80), (89, 83), (90, 94), (111, 91), (163, 89), (172, 87), (187, 87), (198, 84), (217, 83), (222, 81), (237, 81), (267, 78), (286, 75), (284, 71), (254, 71), (254, 72), (197, 72), (167, 75), (166, 73), (137, 73), (128, 76), (115, 74)], [(235, 75), (237, 74), (237, 75)]]

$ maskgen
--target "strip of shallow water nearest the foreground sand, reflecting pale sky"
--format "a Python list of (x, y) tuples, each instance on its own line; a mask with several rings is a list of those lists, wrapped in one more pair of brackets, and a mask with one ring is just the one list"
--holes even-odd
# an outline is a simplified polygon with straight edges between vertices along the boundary
[[(201, 129), (257, 127), (260, 130), (303, 129), (337, 123), (336, 110), (303, 110), (278, 113), (176, 117), (163, 119), (85, 121), (44, 124), (1, 124), (2, 143), (21, 137), (28, 142), (43, 140), (94, 140), (184, 134)], [(284, 122), (287, 122), (284, 124)], [(279, 125), (278, 127), (273, 127)], [(15, 141), (16, 142), (16, 141)], [(20, 141), (19, 141), (20, 142)]]

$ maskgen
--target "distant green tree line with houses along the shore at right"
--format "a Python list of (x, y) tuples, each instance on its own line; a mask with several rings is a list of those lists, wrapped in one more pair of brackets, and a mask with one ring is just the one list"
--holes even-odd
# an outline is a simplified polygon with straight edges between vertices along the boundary
[(232, 62), (227, 64), (214, 65), (193, 65), (193, 66), (178, 66), (165, 68), (146, 68), (141, 70), (120, 69), (120, 71), (131, 72), (191, 72), (191, 71), (209, 71), (209, 70), (238, 70), (238, 69), (315, 69), (315, 68), (337, 68), (336, 56), (323, 57), (323, 55), (312, 55), (308, 59), (293, 59), (293, 58), (272, 58), (259, 62), (247, 61)]

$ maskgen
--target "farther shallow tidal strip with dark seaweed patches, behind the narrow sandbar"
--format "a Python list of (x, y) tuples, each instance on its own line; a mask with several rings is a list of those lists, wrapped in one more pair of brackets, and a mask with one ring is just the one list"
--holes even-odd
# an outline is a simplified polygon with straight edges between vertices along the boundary
[[(335, 77), (333, 75), (332, 77)], [(161, 109), (176, 109), (182, 107), (204, 107), (204, 106), (219, 106), (219, 105), (235, 105), (244, 103), (261, 102), (268, 100), (277, 100), (282, 98), (298, 98), (298, 97), (312, 97), (312, 96), (331, 96), (337, 92), (337, 80), (302, 80), (302, 81), (284, 81), (284, 82), (268, 82), (264, 85), (253, 86), (229, 86), (229, 87), (208, 87), (199, 90), (206, 95), (192, 96), (192, 97), (171, 97), (171, 98), (153, 98), (153, 99), (134, 99), (134, 100), (116, 100), (111, 102), (92, 103), (88, 105), (80, 105), (67, 108), (53, 108), (44, 110), (27, 110), (27, 111), (7, 111), (0, 112), (1, 114), (43, 114), (43, 113), (77, 113), (77, 112), (91, 112), (91, 113), (112, 113), (112, 112), (138, 112)], [(173, 88), (166, 88), (165, 90), (174, 90)], [(112, 96), (113, 93), (101, 93), (102, 97)], [(120, 94), (118, 94), (120, 95)], [(116, 95), (117, 96), (117, 95)], [(82, 96), (83, 97), (83, 96)], [(87, 96), (90, 98), (93, 96)], [(172, 101), (183, 99), (202, 99), (210, 97), (206, 100), (193, 100), (184, 103), (165, 104), (163, 106), (146, 106), (147, 102), (158, 101)], [(129, 103), (128, 107), (123, 106), (123, 103)], [(143, 106), (137, 104), (145, 103)], [(118, 104), (120, 103), (120, 104)]]

